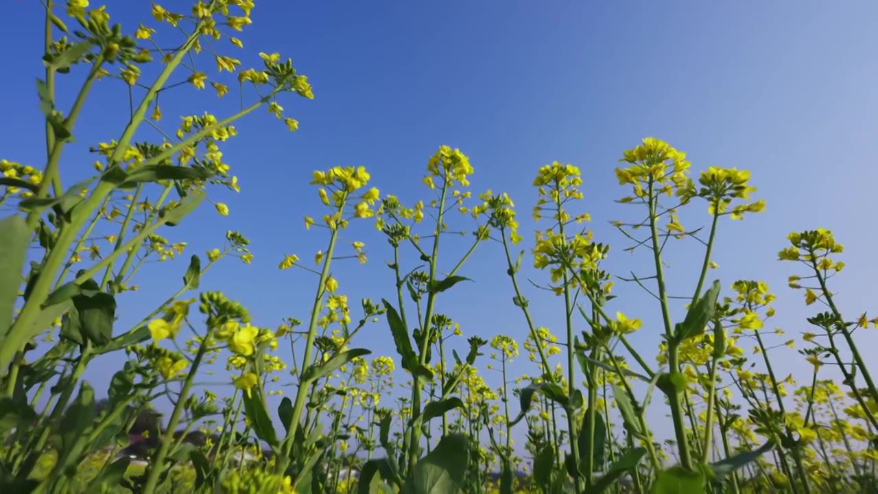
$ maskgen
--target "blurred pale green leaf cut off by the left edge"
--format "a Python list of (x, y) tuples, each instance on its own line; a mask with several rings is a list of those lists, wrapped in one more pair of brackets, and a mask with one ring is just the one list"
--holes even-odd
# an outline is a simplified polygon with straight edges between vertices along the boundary
[(5, 336), (15, 313), (31, 230), (24, 217), (13, 214), (0, 221), (0, 231), (0, 334)]

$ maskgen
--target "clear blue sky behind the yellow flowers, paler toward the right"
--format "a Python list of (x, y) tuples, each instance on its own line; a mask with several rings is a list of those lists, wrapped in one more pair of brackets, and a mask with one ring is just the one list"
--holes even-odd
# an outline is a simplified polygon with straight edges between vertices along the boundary
[[(171, 3), (165, 6), (173, 10)], [(155, 25), (148, 2), (110, 2), (107, 9), (128, 32), (136, 20)], [(0, 156), (41, 166), (43, 127), (33, 84), (41, 75), (41, 8), (7, 2), (0, 11), (15, 19), (0, 32), (7, 68)], [(306, 232), (301, 220), (322, 214), (315, 190), (306, 185), (311, 172), (364, 165), (382, 193), (411, 204), (429, 197), (420, 185), (428, 156), (449, 144), (471, 157), (475, 193), (490, 188), (513, 197), (526, 241), (534, 228), (530, 183), (536, 169), (553, 160), (578, 165), (595, 238), (614, 247), (607, 266), (619, 275), (648, 274), (645, 252), (623, 252), (629, 244), (608, 221), (633, 213), (611, 202), (625, 195), (615, 183), (616, 160), (651, 135), (687, 151), (695, 173), (709, 165), (752, 170), (766, 213), (723, 222), (716, 251), (722, 269), (712, 274), (725, 288), (741, 278), (766, 280), (780, 295), (774, 323), (797, 337), (808, 331), (804, 317), (817, 309), (806, 308), (802, 293), (786, 287), (798, 268), (775, 261), (788, 231), (832, 229), (847, 248), (848, 270), (833, 282), (842, 309), (851, 318), (878, 309), (878, 272), (869, 257), (878, 240), (870, 212), (878, 178), (872, 150), (878, 130), (876, 15), (878, 4), (867, 1), (263, 0), (241, 36), (246, 50), (225, 51), (240, 56), (245, 67), (259, 66), (259, 51), (291, 56), (316, 98), (284, 101), (300, 122), (294, 134), (263, 112), (241, 121), (240, 136), (224, 148), (241, 193), (210, 195), (227, 202), (231, 214), (220, 217), (205, 207), (183, 228), (162, 234), (190, 242), (201, 254), (218, 247), (227, 229), (241, 230), (252, 241), (253, 265), (219, 265), (202, 287), (241, 301), (261, 325), (275, 326), (284, 316), (306, 319), (314, 280), (305, 272), (280, 272), (277, 263), (284, 253), (307, 260), (324, 248), (325, 234)], [(74, 84), (72, 77), (65, 84)], [(126, 121), (122, 84), (98, 87), (107, 92), (83, 113), (77, 143), (62, 163), (65, 176), (89, 173), (93, 158), (84, 150), (118, 138)], [(61, 98), (69, 101), (72, 91), (60, 91)], [(180, 113), (234, 110), (236, 96), (217, 102), (193, 93), (186, 88), (162, 97), (162, 123), (173, 126)], [(683, 219), (687, 226), (706, 222), (706, 210), (696, 206)], [(471, 229), (464, 218), (453, 225)], [(385, 241), (371, 223), (348, 235), (367, 244), (371, 262), (336, 265), (342, 291), (353, 301), (392, 294)], [(526, 327), (511, 304), (499, 255), (499, 246), (483, 246), (464, 272), (475, 283), (443, 295), (439, 310), (453, 316), (465, 335), (502, 332), (523, 340)], [(690, 294), (694, 284), (691, 270), (680, 266), (696, 256), (698, 245), (687, 242), (675, 245), (668, 258), (671, 287), (680, 294)], [(139, 320), (176, 291), (184, 263), (142, 272), (140, 293), (120, 297), (120, 325)], [(658, 306), (637, 287), (619, 283), (616, 294), (613, 309), (644, 318), (635, 345), (652, 354), (659, 342)], [(537, 322), (560, 334), (560, 300), (534, 290), (529, 296), (539, 301), (532, 304)], [(362, 336), (359, 343), (376, 354), (394, 353), (385, 323)], [(860, 341), (868, 348), (878, 338), (864, 331)], [(795, 352), (777, 352), (784, 370), (807, 378), (810, 366), (796, 361)], [(119, 363), (102, 360), (90, 369), (87, 377), (98, 393)], [(534, 368), (522, 356), (515, 371), (533, 374)]]

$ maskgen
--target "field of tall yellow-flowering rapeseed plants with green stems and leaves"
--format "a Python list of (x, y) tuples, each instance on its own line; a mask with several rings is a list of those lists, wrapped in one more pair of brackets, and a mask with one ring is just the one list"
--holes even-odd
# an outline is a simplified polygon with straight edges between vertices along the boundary
[[(255, 28), (252, 0), (153, 3), (138, 25), (87, 0), (44, 4), (35, 96), (46, 161), (0, 156), (0, 492), (878, 493), (878, 389), (858, 346), (878, 317), (839, 309), (843, 239), (818, 225), (779, 232), (788, 287), (758, 272), (712, 275), (717, 232), (764, 214), (758, 174), (633, 142), (615, 169), (630, 214), (608, 239), (588, 228), (592, 178), (573, 164), (536, 163), (536, 204), (492, 192), (449, 146), (424, 156), (413, 203), (363, 166), (313, 171), (311, 206), (284, 214), (325, 247), (277, 259), (312, 287), (310, 309), (261, 327), (201, 288), (213, 265), (251, 263), (245, 226), (205, 252), (187, 232), (199, 208), (229, 214), (212, 191), (248, 193), (222, 152), (237, 128), (259, 110), (296, 131), (284, 105), (314, 98), (308, 77), (281, 54), (259, 53), (255, 67), (236, 58), (248, 48), (235, 33)], [(75, 87), (71, 102), (56, 97), (62, 84)], [(130, 119), (89, 142), (93, 168), (77, 169), (65, 148), (107, 84), (127, 91)], [(177, 115), (160, 105), (169, 90), (234, 96), (241, 109)], [(684, 226), (684, 214), (701, 224)], [(385, 240), (368, 259), (349, 237), (361, 224)], [(687, 258), (685, 294), (669, 287), (680, 274), (666, 262), (681, 242), (700, 252)], [(445, 297), (473, 282), (477, 251), (515, 294), (507, 310), (526, 338), (466, 336), (456, 321)], [(623, 251), (651, 272), (610, 272), (606, 259)], [(367, 260), (392, 272), (392, 296), (345, 294), (336, 273)], [(137, 280), (159, 261), (177, 261), (173, 288), (120, 323), (118, 300), (150, 300)], [(617, 299), (621, 282), (651, 303)], [(774, 328), (778, 297), (807, 311), (802, 336)], [(541, 325), (532, 304), (561, 324)], [(638, 350), (640, 331), (661, 343)], [(395, 352), (367, 332), (389, 335)], [(773, 358), (784, 345), (809, 373)], [(112, 379), (95, 389), (86, 371), (107, 356), (122, 363), (101, 367)], [(205, 376), (233, 391), (219, 396)]]

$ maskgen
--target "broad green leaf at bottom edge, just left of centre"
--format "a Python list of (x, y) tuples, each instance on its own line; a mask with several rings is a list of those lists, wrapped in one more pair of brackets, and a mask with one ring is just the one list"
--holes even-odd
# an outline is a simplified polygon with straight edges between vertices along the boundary
[(449, 434), (414, 465), (399, 494), (454, 494), (464, 487), (470, 463), (470, 440)]

